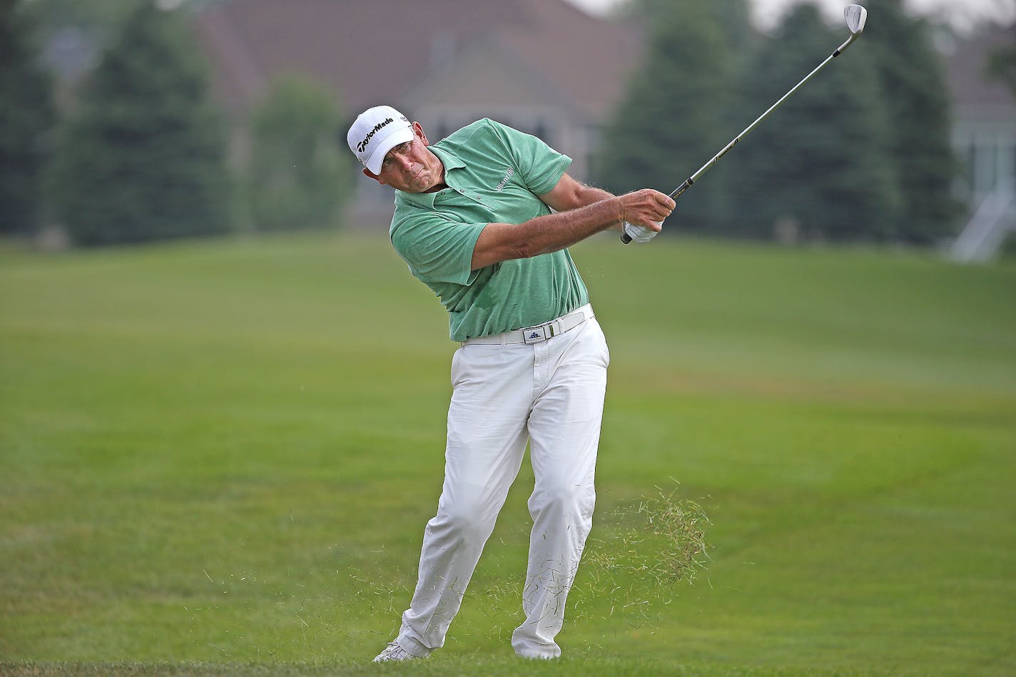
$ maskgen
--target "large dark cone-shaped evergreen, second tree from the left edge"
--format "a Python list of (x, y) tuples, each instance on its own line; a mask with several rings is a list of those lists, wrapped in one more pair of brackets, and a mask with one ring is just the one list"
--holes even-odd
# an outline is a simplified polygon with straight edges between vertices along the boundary
[(144, 2), (125, 21), (58, 153), (54, 196), (75, 242), (228, 229), (224, 129), (198, 54), (178, 12)]

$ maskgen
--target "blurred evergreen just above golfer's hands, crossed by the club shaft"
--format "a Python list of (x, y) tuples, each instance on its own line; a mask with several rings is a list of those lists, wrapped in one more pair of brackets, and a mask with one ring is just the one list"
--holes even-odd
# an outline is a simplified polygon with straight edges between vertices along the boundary
[[(726, 116), (737, 101), (735, 32), (721, 8), (697, 0), (642, 0), (639, 8), (647, 29), (643, 66), (604, 131), (594, 174), (615, 192), (668, 192), (728, 140)], [(683, 195), (676, 223), (707, 228), (721, 222), (723, 184), (717, 172)]]

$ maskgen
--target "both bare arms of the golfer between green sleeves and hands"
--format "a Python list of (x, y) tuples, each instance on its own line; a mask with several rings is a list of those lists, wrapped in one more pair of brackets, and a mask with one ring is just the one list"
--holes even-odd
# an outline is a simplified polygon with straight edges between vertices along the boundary
[(488, 224), (472, 250), (472, 269), (514, 258), (528, 258), (569, 247), (590, 235), (621, 228), (623, 205), (606, 190), (581, 184), (565, 174), (539, 196), (557, 210), (521, 224)]

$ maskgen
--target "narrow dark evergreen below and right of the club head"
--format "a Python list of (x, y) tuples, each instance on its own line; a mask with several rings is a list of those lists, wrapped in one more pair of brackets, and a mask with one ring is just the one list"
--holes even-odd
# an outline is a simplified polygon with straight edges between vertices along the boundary
[(932, 243), (953, 233), (960, 207), (952, 197), (959, 171), (951, 145), (949, 88), (931, 28), (903, 11), (901, 0), (873, 4), (863, 40), (878, 64), (889, 107), (893, 159), (903, 211), (891, 235)]

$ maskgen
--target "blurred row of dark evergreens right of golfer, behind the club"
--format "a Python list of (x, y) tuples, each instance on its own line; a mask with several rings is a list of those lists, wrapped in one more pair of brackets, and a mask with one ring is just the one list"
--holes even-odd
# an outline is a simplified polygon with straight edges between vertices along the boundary
[[(848, 36), (810, 4), (772, 35), (745, 0), (638, 0), (642, 68), (605, 130), (613, 190), (680, 185)], [(951, 235), (959, 165), (932, 26), (901, 0), (869, 5), (864, 35), (680, 198), (679, 228), (710, 234), (930, 244)]]

